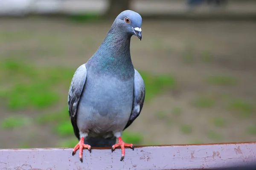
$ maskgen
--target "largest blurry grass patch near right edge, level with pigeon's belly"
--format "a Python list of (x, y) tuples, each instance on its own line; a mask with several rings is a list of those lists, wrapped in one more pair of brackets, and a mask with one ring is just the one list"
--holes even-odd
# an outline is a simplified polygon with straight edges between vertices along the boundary
[(254, 105), (243, 99), (232, 99), (227, 108), (239, 113), (241, 117), (249, 117), (254, 111)]

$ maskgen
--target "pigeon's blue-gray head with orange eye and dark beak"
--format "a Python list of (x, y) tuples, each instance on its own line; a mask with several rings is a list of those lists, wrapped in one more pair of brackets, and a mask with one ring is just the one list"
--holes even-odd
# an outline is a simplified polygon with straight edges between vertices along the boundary
[(119, 31), (122, 30), (122, 34), (135, 35), (141, 40), (141, 23), (142, 18), (140, 14), (131, 10), (125, 10), (116, 17), (113, 24)]

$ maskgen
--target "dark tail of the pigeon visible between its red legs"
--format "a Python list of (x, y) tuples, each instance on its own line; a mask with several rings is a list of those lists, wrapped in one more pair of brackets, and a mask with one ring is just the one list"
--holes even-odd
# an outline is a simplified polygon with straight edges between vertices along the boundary
[(113, 144), (116, 144), (116, 137), (89, 137), (84, 139), (84, 144), (89, 144), (91, 147), (112, 147)]

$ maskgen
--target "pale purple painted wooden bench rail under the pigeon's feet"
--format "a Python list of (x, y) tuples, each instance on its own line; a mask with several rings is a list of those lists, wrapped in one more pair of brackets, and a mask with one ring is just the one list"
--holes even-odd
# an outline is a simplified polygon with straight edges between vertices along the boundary
[[(71, 148), (3, 149), (0, 170), (195, 170), (241, 167), (256, 162), (256, 142), (137, 146), (134, 151), (92, 148), (83, 163)], [(256, 168), (255, 168), (256, 169)], [(244, 169), (245, 170), (245, 169)]]

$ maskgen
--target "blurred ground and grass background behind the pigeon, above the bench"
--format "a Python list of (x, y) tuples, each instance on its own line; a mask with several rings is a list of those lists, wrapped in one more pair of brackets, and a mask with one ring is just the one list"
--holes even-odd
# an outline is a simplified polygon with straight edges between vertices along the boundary
[(74, 147), (67, 95), (123, 10), (146, 88), (135, 145), (256, 141), (255, 0), (0, 1), (0, 148)]

